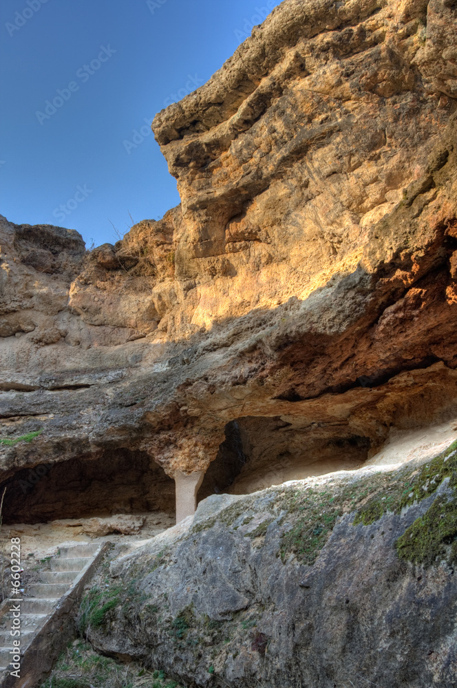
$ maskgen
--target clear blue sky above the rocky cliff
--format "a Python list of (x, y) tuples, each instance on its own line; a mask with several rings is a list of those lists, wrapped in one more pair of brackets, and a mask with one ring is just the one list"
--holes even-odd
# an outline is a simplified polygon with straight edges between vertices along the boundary
[(1, 215), (74, 228), (96, 246), (117, 240), (109, 221), (124, 234), (129, 213), (162, 217), (179, 203), (176, 180), (142, 135), (278, 4), (1, 0)]

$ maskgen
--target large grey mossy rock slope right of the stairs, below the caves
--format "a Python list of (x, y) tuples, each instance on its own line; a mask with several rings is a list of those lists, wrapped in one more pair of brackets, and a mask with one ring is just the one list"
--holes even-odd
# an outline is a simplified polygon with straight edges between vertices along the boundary
[(213, 495), (93, 581), (89, 640), (184, 685), (454, 688), (456, 486), (454, 442), (419, 470)]

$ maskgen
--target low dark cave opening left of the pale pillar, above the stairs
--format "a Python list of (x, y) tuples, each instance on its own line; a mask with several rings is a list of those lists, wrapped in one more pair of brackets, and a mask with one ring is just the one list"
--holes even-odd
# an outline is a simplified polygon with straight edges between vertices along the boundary
[(174, 481), (147, 453), (129, 449), (24, 469), (1, 493), (5, 487), (4, 524), (175, 511)]

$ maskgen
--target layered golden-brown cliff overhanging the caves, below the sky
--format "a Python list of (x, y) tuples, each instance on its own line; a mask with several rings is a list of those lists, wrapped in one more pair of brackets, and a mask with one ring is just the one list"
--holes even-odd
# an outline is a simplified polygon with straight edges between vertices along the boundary
[(41, 431), (4, 479), (120, 448), (204, 471), (238, 420), (266, 472), (356, 468), (456, 415), (456, 21), (285, 0), (156, 116), (178, 208), (87, 253), (2, 220), (1, 436)]

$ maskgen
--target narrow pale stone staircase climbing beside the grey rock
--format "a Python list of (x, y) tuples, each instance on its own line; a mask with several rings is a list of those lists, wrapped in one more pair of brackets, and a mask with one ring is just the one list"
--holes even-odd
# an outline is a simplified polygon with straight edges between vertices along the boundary
[[(56, 650), (65, 647), (65, 641), (54, 642), (54, 652), (46, 653), (46, 636), (56, 631), (62, 632), (63, 625), (72, 625), (71, 612), (76, 605), (87, 579), (94, 572), (94, 564), (99, 561), (106, 549), (100, 543), (81, 542), (62, 546), (59, 554), (50, 560), (50, 570), (42, 571), (40, 583), (33, 583), (21, 597), (21, 678), (10, 676), (12, 636), (10, 635), (12, 615), (9, 612), (14, 601), (4, 603), (5, 611), (0, 621), (0, 686), (8, 688), (32, 688), (43, 676), (54, 660)], [(72, 594), (73, 593), (73, 594)], [(70, 612), (70, 614), (69, 614)], [(70, 621), (69, 621), (70, 619)], [(61, 649), (63, 649), (61, 647)], [(50, 645), (51, 648), (51, 645)], [(59, 652), (61, 651), (59, 650)], [(37, 666), (38, 662), (38, 666)]]

